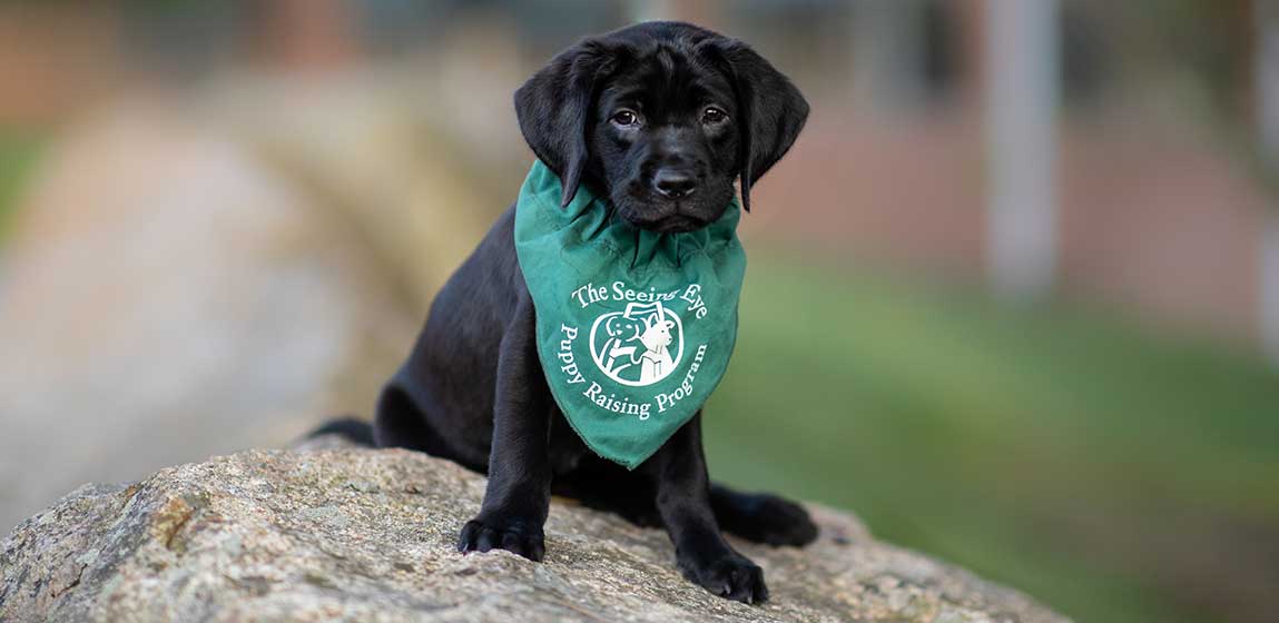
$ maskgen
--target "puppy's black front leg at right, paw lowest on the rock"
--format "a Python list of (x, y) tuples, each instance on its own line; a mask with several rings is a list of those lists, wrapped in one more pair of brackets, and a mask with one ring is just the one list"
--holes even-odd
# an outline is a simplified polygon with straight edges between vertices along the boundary
[(645, 468), (655, 478), (657, 512), (675, 544), (675, 559), (684, 577), (737, 601), (767, 600), (764, 572), (733, 550), (715, 523), (702, 453), (701, 412), (666, 440), (645, 462)]

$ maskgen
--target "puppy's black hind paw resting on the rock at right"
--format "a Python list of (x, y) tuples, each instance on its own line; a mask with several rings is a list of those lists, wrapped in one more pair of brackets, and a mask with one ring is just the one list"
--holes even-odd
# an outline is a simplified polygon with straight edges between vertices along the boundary
[(711, 508), (724, 531), (748, 541), (803, 546), (817, 539), (808, 512), (776, 495), (743, 494), (712, 482)]

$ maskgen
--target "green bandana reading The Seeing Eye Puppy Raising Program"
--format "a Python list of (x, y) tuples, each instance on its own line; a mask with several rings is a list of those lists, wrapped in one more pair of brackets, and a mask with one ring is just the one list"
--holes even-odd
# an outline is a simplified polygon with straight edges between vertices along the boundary
[(719, 385), (737, 339), (746, 253), (737, 200), (697, 232), (660, 234), (585, 185), (560, 207), (533, 162), (515, 207), (515, 253), (537, 310), (537, 356), (555, 402), (599, 455), (628, 469)]

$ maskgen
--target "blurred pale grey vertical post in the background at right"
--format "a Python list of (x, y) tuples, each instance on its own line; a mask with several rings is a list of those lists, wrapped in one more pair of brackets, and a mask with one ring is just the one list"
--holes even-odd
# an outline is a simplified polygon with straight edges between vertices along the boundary
[(1032, 298), (1056, 269), (1056, 0), (987, 0), (987, 264), (996, 292)]

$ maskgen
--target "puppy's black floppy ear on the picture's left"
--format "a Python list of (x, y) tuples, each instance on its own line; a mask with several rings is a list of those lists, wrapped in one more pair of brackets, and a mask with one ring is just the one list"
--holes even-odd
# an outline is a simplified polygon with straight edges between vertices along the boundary
[(515, 91), (519, 130), (537, 159), (559, 175), (561, 206), (573, 201), (582, 182), (596, 91), (614, 65), (613, 50), (588, 38), (556, 55)]

